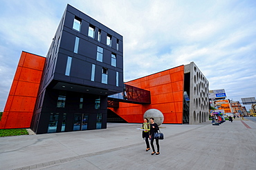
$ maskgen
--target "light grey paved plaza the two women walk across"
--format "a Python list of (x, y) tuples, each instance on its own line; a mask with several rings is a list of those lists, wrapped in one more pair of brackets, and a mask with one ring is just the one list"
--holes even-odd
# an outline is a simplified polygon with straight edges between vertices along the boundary
[(160, 155), (145, 151), (140, 124), (0, 138), (0, 169), (255, 169), (256, 123), (161, 125)]

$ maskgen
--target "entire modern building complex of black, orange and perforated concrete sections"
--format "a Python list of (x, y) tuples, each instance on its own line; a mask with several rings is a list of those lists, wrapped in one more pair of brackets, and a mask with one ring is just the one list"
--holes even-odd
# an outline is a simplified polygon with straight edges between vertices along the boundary
[(124, 84), (122, 42), (120, 34), (67, 5), (46, 57), (21, 53), (0, 129), (105, 129), (113, 115), (141, 123), (153, 108), (163, 113), (163, 123), (206, 121), (209, 83), (193, 62)]

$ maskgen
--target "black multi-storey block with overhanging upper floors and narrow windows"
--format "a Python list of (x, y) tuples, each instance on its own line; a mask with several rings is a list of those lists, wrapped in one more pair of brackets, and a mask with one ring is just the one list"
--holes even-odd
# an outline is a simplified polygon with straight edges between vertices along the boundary
[(107, 128), (107, 96), (122, 90), (122, 36), (67, 5), (46, 55), (31, 128)]

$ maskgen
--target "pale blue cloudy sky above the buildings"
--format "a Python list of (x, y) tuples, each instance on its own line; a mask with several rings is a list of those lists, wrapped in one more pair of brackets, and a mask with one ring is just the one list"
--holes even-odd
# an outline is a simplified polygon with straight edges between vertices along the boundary
[(210, 89), (256, 97), (255, 0), (0, 2), (0, 111), (21, 51), (46, 56), (67, 3), (123, 36), (125, 81), (194, 61)]

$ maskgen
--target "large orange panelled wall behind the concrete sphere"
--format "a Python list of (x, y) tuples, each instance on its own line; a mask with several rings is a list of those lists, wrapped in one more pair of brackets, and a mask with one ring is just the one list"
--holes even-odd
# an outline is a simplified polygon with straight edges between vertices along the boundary
[(111, 108), (128, 123), (143, 122), (143, 114), (148, 109), (160, 110), (164, 116), (163, 123), (183, 123), (184, 65), (125, 84), (147, 89), (151, 94), (149, 105), (119, 103), (119, 108)]

